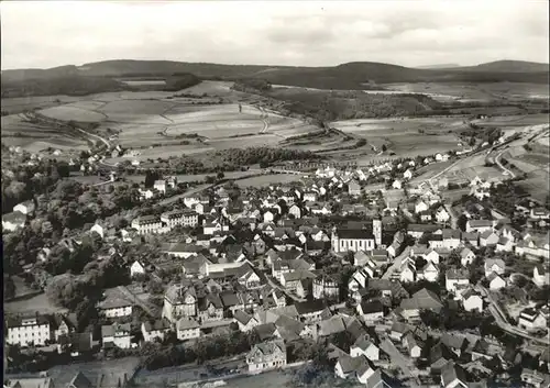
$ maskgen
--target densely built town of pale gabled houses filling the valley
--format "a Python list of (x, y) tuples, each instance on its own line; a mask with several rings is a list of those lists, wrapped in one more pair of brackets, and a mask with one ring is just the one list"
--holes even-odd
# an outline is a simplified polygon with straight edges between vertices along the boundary
[[(20, 278), (46, 298), (32, 313), (8, 303), (6, 372), (138, 357), (114, 375), (26, 380), (154, 386), (142, 370), (191, 363), (199, 380), (300, 367), (370, 388), (548, 387), (550, 211), (509, 180), (475, 177), (454, 201), (444, 178), (410, 184), (437, 159), (215, 184), (168, 206), (176, 177), (62, 180), (2, 218), (4, 268), (20, 268), (4, 293)], [(381, 174), (393, 178), (369, 190)], [(96, 207), (110, 215), (81, 224)]]

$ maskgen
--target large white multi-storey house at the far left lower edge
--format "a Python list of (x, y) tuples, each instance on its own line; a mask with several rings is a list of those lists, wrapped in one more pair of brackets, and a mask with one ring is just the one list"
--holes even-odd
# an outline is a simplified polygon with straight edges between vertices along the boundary
[(44, 346), (52, 340), (52, 328), (46, 315), (15, 317), (6, 319), (6, 343), (10, 345)]

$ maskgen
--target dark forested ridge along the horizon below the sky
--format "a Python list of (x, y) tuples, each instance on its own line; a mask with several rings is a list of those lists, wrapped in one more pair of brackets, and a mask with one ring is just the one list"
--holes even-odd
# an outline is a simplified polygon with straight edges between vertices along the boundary
[[(123, 77), (187, 77), (239, 80), (260, 78), (274, 85), (317, 89), (362, 90), (393, 82), (531, 82), (548, 84), (549, 65), (521, 60), (497, 60), (470, 67), (411, 68), (375, 62), (352, 62), (330, 67), (276, 65), (222, 65), (175, 60), (116, 59), (59, 66), (51, 69), (16, 69), (1, 73), (2, 96), (38, 96), (57, 85), (78, 85), (79, 93), (94, 86), (119, 89)], [(98, 78), (94, 80), (94, 78)], [(55, 80), (55, 82), (51, 81)], [(40, 81), (40, 82), (37, 82)], [(103, 82), (105, 81), (105, 82)], [(107, 82), (110, 81), (110, 82)], [(52, 88), (52, 86), (56, 86)], [(8, 93), (9, 90), (9, 93)], [(97, 89), (95, 92), (98, 92)]]

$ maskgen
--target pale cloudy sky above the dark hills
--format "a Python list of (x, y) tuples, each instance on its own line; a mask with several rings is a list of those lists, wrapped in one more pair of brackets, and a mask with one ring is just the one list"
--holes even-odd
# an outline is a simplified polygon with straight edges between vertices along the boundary
[(549, 62), (547, 1), (2, 1), (1, 68)]

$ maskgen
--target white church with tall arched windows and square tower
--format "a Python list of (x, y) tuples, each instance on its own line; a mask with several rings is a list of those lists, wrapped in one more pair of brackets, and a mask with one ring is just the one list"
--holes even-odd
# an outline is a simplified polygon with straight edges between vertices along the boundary
[(373, 220), (373, 231), (366, 229), (334, 229), (331, 239), (336, 253), (373, 251), (382, 245), (382, 221)]

